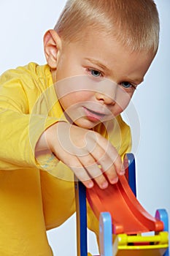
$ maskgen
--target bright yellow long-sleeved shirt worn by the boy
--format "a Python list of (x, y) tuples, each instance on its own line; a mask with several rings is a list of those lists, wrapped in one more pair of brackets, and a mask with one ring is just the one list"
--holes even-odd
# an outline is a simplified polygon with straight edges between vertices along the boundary
[[(0, 77), (0, 255), (50, 256), (46, 230), (75, 211), (73, 173), (53, 154), (39, 162), (34, 148), (42, 132), (65, 120), (47, 65), (30, 63)], [(96, 131), (123, 156), (131, 148), (130, 129), (120, 116)], [(98, 222), (88, 206), (88, 227)], [(72, 234), (71, 234), (72, 236)], [(63, 238), (64, 239), (64, 238)]]

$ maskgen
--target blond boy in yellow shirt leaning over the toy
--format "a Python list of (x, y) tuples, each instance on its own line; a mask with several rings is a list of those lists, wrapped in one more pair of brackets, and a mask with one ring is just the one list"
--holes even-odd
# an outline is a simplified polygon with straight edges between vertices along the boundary
[(46, 230), (75, 211), (73, 173), (101, 189), (124, 174), (131, 135), (120, 113), (158, 34), (151, 0), (67, 1), (44, 37), (47, 64), (1, 75), (1, 255), (53, 255)]

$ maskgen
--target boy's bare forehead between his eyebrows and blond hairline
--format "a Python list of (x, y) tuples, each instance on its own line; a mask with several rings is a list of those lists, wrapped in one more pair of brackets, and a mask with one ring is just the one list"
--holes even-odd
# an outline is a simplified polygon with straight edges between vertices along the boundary
[(109, 75), (116, 72), (124, 76), (139, 76), (142, 80), (153, 59), (152, 53), (146, 50), (131, 52), (113, 35), (93, 29), (83, 31), (82, 37), (72, 45), (78, 57), (105, 68)]

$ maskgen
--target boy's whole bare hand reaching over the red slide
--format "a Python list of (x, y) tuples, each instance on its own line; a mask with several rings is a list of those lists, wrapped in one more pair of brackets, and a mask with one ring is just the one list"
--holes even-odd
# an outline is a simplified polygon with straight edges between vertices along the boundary
[(46, 130), (45, 138), (53, 154), (73, 170), (85, 187), (93, 187), (93, 178), (105, 189), (108, 181), (115, 184), (117, 174), (124, 174), (116, 149), (97, 132), (58, 122)]

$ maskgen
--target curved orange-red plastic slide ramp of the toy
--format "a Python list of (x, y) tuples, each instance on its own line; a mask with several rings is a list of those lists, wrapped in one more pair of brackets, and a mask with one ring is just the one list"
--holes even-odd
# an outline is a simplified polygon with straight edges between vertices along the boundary
[(109, 212), (112, 217), (113, 233), (128, 235), (163, 230), (163, 222), (156, 220), (140, 205), (128, 185), (125, 176), (120, 176), (117, 184), (109, 184), (100, 189), (96, 184), (86, 190), (90, 207), (99, 219), (101, 212)]

